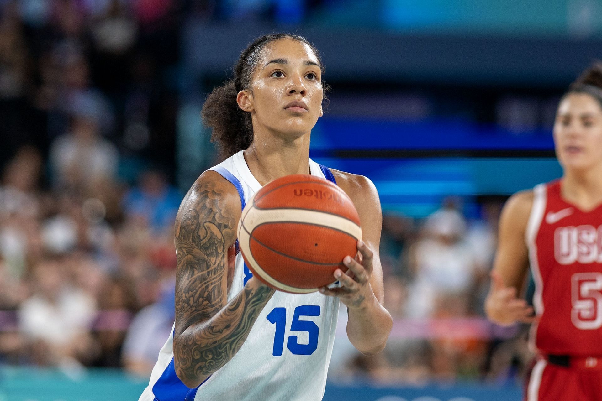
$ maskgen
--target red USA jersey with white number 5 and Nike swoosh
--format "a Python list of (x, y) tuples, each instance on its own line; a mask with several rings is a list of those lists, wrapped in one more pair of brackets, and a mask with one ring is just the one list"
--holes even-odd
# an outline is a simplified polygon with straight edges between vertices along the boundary
[(584, 212), (540, 184), (527, 224), (538, 316), (531, 340), (542, 354), (602, 356), (602, 205)]

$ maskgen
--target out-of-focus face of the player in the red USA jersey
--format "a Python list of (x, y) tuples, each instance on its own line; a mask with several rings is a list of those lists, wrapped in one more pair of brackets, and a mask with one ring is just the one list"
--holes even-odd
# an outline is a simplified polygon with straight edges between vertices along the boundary
[(566, 96), (554, 123), (556, 155), (564, 168), (587, 170), (602, 164), (602, 108), (585, 93)]

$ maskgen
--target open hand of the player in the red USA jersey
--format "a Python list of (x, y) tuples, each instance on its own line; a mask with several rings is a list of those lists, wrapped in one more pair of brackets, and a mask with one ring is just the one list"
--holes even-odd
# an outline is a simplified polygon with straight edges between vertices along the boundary
[(491, 271), (491, 289), (485, 300), (485, 312), (489, 320), (501, 326), (515, 322), (532, 323), (535, 320), (533, 308), (527, 301), (517, 298), (515, 287), (506, 287), (497, 271)]

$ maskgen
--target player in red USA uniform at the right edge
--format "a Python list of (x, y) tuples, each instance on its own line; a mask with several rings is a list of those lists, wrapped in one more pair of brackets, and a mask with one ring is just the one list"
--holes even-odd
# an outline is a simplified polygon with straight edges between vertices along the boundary
[[(602, 400), (602, 63), (571, 85), (554, 124), (559, 180), (510, 197), (486, 313), (533, 322), (538, 361), (527, 401)], [(528, 266), (535, 317), (517, 295)]]

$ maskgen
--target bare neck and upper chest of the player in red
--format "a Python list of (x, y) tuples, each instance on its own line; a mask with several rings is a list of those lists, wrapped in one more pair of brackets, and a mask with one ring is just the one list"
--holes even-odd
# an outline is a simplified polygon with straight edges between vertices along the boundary
[(585, 210), (602, 203), (602, 164), (583, 171), (565, 170), (562, 196)]

